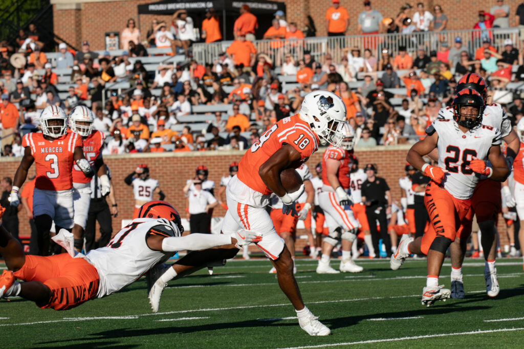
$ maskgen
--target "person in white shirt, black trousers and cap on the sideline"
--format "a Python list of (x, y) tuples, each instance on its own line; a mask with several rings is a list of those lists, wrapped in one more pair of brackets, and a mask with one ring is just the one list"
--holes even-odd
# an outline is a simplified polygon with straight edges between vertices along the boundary
[(199, 177), (188, 181), (183, 190), (188, 197), (185, 212), (191, 234), (210, 234), (212, 209), (219, 205), (219, 201), (208, 190), (202, 189), (202, 179)]

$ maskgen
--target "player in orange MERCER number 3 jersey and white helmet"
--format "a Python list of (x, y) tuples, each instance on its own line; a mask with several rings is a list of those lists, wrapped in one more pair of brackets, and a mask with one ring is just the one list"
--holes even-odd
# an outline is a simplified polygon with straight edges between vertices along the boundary
[(18, 190), (27, 178), (27, 171), (36, 163), (36, 182), (33, 194), (33, 216), (38, 232), (40, 254), (49, 254), (52, 223), (57, 227), (73, 228), (73, 163), (86, 177), (94, 171), (82, 151), (82, 138), (67, 132), (67, 116), (62, 108), (47, 106), (40, 115), (42, 133), (24, 136), (24, 157), (16, 170), (11, 190), (11, 205), (17, 206)]

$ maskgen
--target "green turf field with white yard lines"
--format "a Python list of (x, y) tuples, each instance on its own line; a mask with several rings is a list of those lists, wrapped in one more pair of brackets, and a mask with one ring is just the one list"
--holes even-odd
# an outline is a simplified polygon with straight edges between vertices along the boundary
[[(425, 260), (408, 260), (396, 272), (389, 261), (359, 260), (363, 273), (337, 275), (316, 274), (316, 263), (298, 260), (297, 281), (307, 306), (331, 328), (328, 337), (300, 329), (275, 275), (267, 273), (270, 263), (258, 259), (230, 261), (212, 276), (201, 271), (171, 282), (157, 314), (150, 311), (144, 279), (62, 312), (41, 310), (21, 298), (2, 300), (2, 348), (524, 346), (520, 258), (497, 261), (501, 291), (496, 299), (485, 294), (483, 260), (468, 260), (466, 298), (430, 308), (420, 302)], [(446, 287), (449, 263), (440, 279)]]

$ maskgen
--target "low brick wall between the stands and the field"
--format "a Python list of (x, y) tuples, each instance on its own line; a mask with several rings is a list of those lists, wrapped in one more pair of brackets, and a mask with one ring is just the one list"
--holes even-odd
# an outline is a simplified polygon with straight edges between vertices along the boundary
[[(357, 151), (360, 167), (366, 163), (375, 163), (378, 167), (378, 176), (386, 178), (391, 188), (394, 200), (400, 200), (401, 193), (398, 186), (398, 179), (404, 176), (404, 166), (406, 164), (407, 146), (377, 147), (371, 150)], [(310, 171), (314, 173), (315, 165), (321, 161), (322, 149), (311, 156), (308, 161)], [(184, 214), (184, 196), (182, 188), (185, 181), (192, 178), (195, 169), (199, 165), (206, 165), (209, 168), (209, 179), (215, 181), (215, 185), (220, 185), (220, 178), (228, 175), (229, 164), (239, 161), (243, 155), (242, 151), (216, 151), (216, 152), (194, 152), (194, 153), (144, 153), (128, 155), (105, 156), (104, 161), (110, 166), (115, 186), (116, 199), (118, 202), (118, 218), (113, 220), (113, 231), (116, 232), (121, 227), (121, 219), (131, 219), (133, 216), (134, 199), (133, 190), (124, 183), (124, 178), (135, 170), (138, 164), (145, 163), (150, 168), (152, 178), (158, 179), (160, 188), (166, 194), (166, 200), (176, 207), (181, 215)], [(19, 159), (0, 158), (0, 178), (5, 176), (13, 177)], [(29, 171), (29, 176), (34, 175), (34, 167)], [(155, 199), (158, 196), (155, 195)], [(224, 210), (218, 207), (214, 215), (221, 217)], [(21, 210), (20, 234), (29, 235), (29, 226), (25, 216), (25, 211)], [(504, 221), (499, 220), (499, 231), (505, 231)], [(506, 238), (501, 237), (501, 245), (506, 243)], [(301, 249), (301, 247), (300, 247)]]

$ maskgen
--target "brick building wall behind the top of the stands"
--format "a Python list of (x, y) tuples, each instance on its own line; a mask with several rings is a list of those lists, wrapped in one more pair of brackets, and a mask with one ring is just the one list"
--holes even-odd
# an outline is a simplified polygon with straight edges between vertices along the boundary
[[(104, 32), (122, 31), (127, 19), (137, 18), (137, 5), (155, 2), (155, 0), (121, 0), (107, 2), (89, 2), (81, 0), (64, 6), (65, 0), (52, 0), (54, 31), (64, 40), (71, 42), (80, 48), (81, 40), (87, 39), (91, 42), (93, 50), (104, 49)], [(317, 28), (318, 36), (325, 36), (325, 10), (332, 5), (331, 0), (285, 0), (288, 21), (296, 21), (302, 28), (305, 17), (311, 14)], [(425, 9), (431, 10), (435, 4), (442, 9), (449, 19), (447, 29), (470, 29), (477, 22), (478, 10), (489, 11), (495, 5), (495, 0), (487, 2), (480, 1), (456, 1), (456, 0), (425, 0), (422, 1)], [(416, 7), (418, 1), (408, 2)], [(73, 4), (76, 9), (71, 9)], [(357, 28), (358, 14), (364, 10), (363, 1), (341, 0), (341, 6), (348, 10), (350, 15), (350, 26), (347, 35), (354, 35)], [(372, 6), (378, 10), (383, 17), (396, 18), (400, 7), (406, 4), (406, 0), (374, 0)], [(517, 0), (507, 0), (505, 4), (510, 6), (510, 25), (513, 24), (515, 10), (520, 4)], [(414, 10), (414, 9), (413, 9)], [(159, 20), (170, 21), (170, 16), (140, 15), (140, 31), (145, 37), (151, 25), (151, 19), (157, 17)]]

